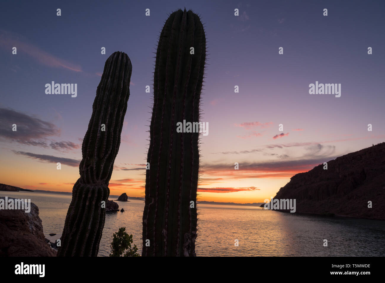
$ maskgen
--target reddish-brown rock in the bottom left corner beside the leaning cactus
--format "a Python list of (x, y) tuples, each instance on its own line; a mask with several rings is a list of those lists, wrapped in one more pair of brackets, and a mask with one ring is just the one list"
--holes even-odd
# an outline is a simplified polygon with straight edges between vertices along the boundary
[(56, 256), (45, 240), (39, 208), (35, 204), (31, 203), (28, 213), (0, 210), (0, 256)]

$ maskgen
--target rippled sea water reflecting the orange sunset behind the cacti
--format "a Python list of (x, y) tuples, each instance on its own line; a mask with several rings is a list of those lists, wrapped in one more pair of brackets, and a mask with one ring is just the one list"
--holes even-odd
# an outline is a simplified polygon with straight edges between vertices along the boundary
[[(45, 235), (62, 233), (70, 195), (0, 191), (0, 196), (31, 199), (39, 207)], [(120, 227), (133, 235), (141, 253), (144, 202), (116, 202), (126, 211), (106, 214), (99, 256), (109, 255), (111, 236)], [(200, 204), (198, 210), (197, 256), (385, 256), (385, 221), (237, 205)], [(328, 246), (323, 246), (325, 239)]]

